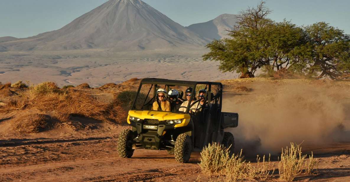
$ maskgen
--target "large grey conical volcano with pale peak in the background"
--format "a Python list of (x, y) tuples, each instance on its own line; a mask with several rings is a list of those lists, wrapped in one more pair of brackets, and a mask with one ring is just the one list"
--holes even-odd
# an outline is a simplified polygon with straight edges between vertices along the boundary
[(203, 47), (208, 41), (141, 0), (110, 0), (59, 30), (0, 43), (0, 47), (128, 51)]

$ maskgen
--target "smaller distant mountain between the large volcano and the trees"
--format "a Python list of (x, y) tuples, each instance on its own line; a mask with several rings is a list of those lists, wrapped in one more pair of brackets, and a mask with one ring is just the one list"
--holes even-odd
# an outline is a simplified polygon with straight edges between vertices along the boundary
[(202, 37), (210, 38), (211, 40), (229, 37), (226, 35), (228, 33), (226, 30), (233, 29), (233, 26), (235, 26), (237, 21), (236, 16), (237, 15), (233, 14), (222, 14), (214, 20), (204, 23), (196, 23), (186, 28), (194, 31)]

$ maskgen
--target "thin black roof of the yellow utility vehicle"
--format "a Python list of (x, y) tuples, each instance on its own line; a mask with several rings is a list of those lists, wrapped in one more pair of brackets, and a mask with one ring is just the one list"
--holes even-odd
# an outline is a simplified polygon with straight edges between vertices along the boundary
[(212, 84), (212, 85), (221, 85), (220, 82), (196, 82), (196, 81), (184, 81), (184, 80), (170, 80), (170, 79), (161, 79), (161, 78), (144, 78), (141, 80), (141, 83), (151, 83), (151, 84), (167, 84), (167, 85), (188, 85), (195, 86), (196, 84)]

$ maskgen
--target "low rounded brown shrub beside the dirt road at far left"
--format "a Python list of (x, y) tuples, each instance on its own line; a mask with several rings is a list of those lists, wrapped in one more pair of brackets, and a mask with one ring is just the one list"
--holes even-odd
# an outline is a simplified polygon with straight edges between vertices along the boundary
[(45, 114), (28, 114), (15, 121), (15, 130), (20, 133), (41, 132), (48, 126), (48, 119), (50, 118)]

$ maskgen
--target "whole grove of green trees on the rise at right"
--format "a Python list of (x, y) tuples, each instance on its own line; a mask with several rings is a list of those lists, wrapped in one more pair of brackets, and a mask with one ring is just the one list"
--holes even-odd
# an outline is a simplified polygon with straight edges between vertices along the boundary
[(261, 1), (239, 12), (238, 22), (228, 30), (231, 38), (207, 44), (204, 61), (219, 61), (219, 70), (254, 77), (255, 71), (287, 69), (299, 75), (338, 79), (350, 71), (350, 38), (342, 30), (318, 22), (299, 27), (290, 21), (274, 22)]

